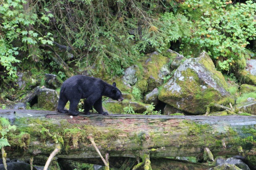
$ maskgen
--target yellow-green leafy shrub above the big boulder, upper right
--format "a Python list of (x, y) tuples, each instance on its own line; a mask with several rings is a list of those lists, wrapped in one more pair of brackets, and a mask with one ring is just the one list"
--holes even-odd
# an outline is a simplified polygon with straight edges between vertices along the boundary
[(182, 44), (208, 52), (218, 60), (220, 70), (229, 70), (232, 60), (239, 60), (246, 53), (248, 40), (255, 40), (256, 4), (252, 1), (226, 4), (222, 0), (188, 0), (183, 9), (193, 18), (194, 28), (190, 37), (182, 38)]

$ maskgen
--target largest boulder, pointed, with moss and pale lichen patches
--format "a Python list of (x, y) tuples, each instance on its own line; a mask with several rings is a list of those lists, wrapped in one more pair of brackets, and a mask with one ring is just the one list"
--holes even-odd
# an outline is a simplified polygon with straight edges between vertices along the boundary
[(158, 99), (192, 114), (206, 113), (211, 103), (234, 103), (225, 78), (206, 52), (185, 60), (159, 90)]

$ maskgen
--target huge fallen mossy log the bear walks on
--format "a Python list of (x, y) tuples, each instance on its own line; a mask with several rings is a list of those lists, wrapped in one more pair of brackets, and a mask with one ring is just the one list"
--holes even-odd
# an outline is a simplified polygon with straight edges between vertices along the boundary
[[(93, 137), (102, 155), (151, 159), (255, 155), (256, 116), (167, 116), (91, 114), (71, 117), (56, 111), (0, 110), (17, 130), (8, 134), (7, 157), (47, 155), (61, 145), (56, 157), (90, 162), (99, 158), (87, 138)], [(159, 149), (164, 147), (165, 149)], [(241, 150), (242, 148), (242, 150)], [(157, 150), (157, 151), (156, 151)], [(88, 160), (88, 161), (87, 161)]]

